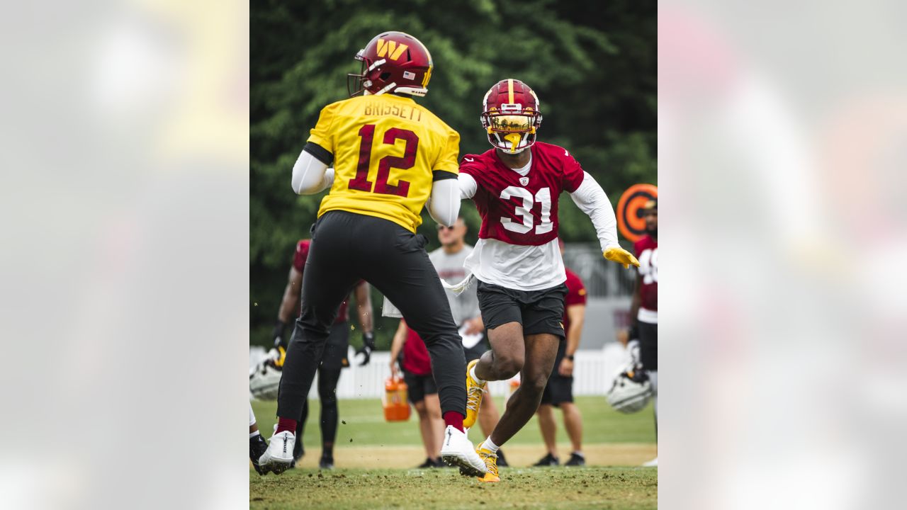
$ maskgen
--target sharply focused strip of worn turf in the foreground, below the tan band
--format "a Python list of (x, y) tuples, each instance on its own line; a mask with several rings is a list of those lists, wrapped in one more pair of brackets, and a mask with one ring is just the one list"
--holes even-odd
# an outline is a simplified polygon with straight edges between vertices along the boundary
[(503, 468), (499, 484), (454, 469), (292, 469), (252, 473), (249, 508), (658, 507), (655, 467)]

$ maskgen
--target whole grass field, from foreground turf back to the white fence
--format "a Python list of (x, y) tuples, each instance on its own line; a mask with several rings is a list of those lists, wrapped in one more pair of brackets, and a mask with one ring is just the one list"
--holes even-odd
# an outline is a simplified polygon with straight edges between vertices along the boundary
[[(496, 399), (503, 408), (503, 398)], [(587, 467), (527, 467), (544, 455), (533, 418), (503, 447), (511, 463), (500, 484), (481, 484), (454, 469), (414, 469), (425, 457), (418, 418), (387, 423), (378, 400), (340, 400), (337, 468), (320, 471), (317, 401), (303, 437), (306, 456), (297, 469), (258, 476), (249, 468), (250, 508), (614, 508), (658, 506), (658, 469), (634, 467), (656, 456), (651, 407), (619, 414), (603, 397), (578, 397)], [(252, 402), (266, 437), (275, 402)], [(570, 444), (558, 418), (561, 460)], [(470, 439), (483, 439), (478, 427)]]

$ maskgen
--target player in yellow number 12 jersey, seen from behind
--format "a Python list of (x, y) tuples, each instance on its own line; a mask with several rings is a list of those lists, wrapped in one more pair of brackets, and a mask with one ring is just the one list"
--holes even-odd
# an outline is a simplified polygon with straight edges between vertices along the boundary
[(427, 240), (415, 235), (426, 205), (434, 221), (456, 221), (460, 135), (412, 98), (428, 92), (433, 66), (415, 37), (379, 34), (356, 59), (362, 62), (362, 74), (350, 75), (356, 91), (321, 111), (293, 167), (297, 193), (331, 190), (312, 227), (301, 313), (280, 379), (277, 431), (258, 465), (276, 474), (290, 466), (296, 418), (330, 326), (350, 289), (366, 280), (395, 304), (428, 348), (447, 426), (441, 458), (465, 474), (483, 476), (485, 463), (463, 432), (463, 343), (425, 253)]

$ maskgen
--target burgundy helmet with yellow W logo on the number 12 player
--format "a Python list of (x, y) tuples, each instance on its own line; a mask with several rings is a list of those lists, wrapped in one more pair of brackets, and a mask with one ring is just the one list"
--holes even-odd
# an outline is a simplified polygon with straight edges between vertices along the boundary
[(350, 96), (359, 93), (408, 93), (424, 96), (432, 77), (432, 54), (418, 39), (403, 32), (385, 32), (356, 54), (361, 74), (346, 75)]

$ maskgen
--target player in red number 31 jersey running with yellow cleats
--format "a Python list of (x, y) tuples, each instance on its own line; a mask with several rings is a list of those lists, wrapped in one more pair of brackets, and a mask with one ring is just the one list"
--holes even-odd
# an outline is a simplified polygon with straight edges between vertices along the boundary
[(475, 423), (486, 381), (521, 374), (497, 427), (478, 448), (500, 481), (496, 452), (535, 414), (564, 338), (567, 279), (558, 248), (562, 191), (589, 215), (605, 259), (639, 265), (618, 244), (614, 211), (600, 185), (563, 147), (536, 142), (539, 98), (519, 80), (495, 83), (483, 99), (482, 124), (493, 149), (460, 162), (460, 196), (482, 216), (479, 240), (464, 261), (478, 281), (479, 305), (492, 350), (466, 368), (466, 419)]

